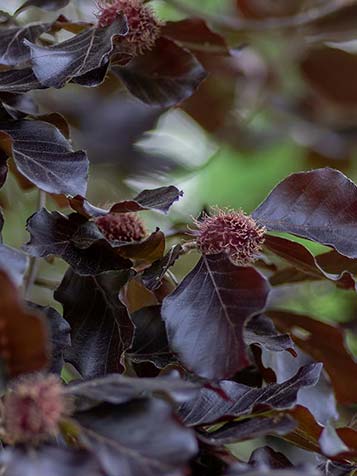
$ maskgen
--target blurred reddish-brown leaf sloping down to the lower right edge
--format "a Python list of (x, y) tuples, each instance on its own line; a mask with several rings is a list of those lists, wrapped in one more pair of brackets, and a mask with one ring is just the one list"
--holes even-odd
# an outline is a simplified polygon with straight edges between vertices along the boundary
[[(339, 403), (357, 401), (357, 389), (351, 385), (351, 379), (357, 378), (357, 362), (346, 349), (344, 331), (340, 327), (293, 312), (272, 310), (267, 314), (281, 331), (290, 332), (304, 352), (324, 363)], [(302, 336), (299, 329), (308, 334)]]

